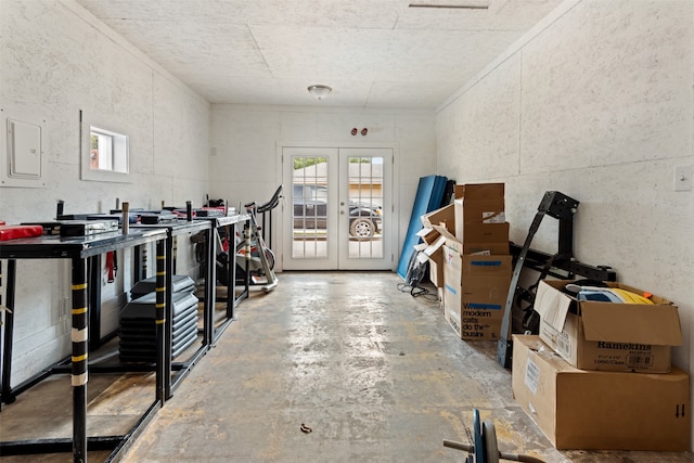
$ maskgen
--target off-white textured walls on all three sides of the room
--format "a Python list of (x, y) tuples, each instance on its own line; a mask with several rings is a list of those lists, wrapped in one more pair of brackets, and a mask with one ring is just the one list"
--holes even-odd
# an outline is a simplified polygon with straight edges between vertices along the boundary
[[(568, 0), (436, 115), (210, 110), (72, 0), (2, 0), (0, 9), (2, 126), (20, 113), (43, 120), (48, 146), (47, 187), (0, 188), (0, 220), (51, 219), (56, 200), (68, 213), (105, 211), (116, 197), (147, 208), (200, 205), (205, 193), (232, 206), (265, 201), (281, 181), (279, 143), (391, 143), (398, 252), (422, 176), (505, 182), (515, 242), (544, 191), (562, 191), (581, 202), (580, 260), (611, 265), (680, 307), (685, 345), (674, 362), (689, 370), (692, 193), (673, 192), (673, 168), (694, 165), (691, 1)], [(131, 183), (80, 180), (79, 110), (128, 132)], [(352, 127), (369, 127), (369, 137), (356, 141)], [(534, 247), (553, 250), (555, 241), (548, 219)], [(68, 352), (67, 275), (65, 262), (20, 262), (14, 382)], [(123, 284), (108, 291), (117, 296)]]

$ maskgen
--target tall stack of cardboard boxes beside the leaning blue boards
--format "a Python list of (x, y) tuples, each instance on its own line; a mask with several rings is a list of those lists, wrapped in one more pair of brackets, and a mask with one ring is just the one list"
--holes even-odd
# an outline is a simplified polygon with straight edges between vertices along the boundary
[(513, 272), (504, 184), (455, 185), (452, 206), (454, 228), (433, 226), (444, 237), (444, 314), (463, 339), (498, 339)]

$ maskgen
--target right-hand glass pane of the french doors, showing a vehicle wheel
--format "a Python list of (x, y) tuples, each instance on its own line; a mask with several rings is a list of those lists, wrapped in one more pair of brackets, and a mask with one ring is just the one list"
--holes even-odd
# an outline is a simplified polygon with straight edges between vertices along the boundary
[(383, 258), (383, 159), (347, 159), (350, 259)]

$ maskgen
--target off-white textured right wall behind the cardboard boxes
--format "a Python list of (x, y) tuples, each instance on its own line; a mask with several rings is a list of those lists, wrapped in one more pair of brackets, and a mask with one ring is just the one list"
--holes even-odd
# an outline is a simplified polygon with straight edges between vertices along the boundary
[[(685, 0), (569, 0), (437, 114), (439, 172), (505, 182), (515, 243), (545, 191), (580, 201), (576, 257), (679, 306), (687, 371), (693, 193), (673, 185), (694, 165), (692, 24)], [(545, 219), (534, 247), (556, 236)]]

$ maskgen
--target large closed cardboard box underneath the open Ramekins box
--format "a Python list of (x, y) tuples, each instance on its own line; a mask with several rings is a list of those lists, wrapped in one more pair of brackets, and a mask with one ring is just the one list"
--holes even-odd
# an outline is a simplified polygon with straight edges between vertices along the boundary
[(514, 335), (512, 388), (557, 449), (690, 450), (690, 381), (681, 370), (579, 370), (539, 336)]

